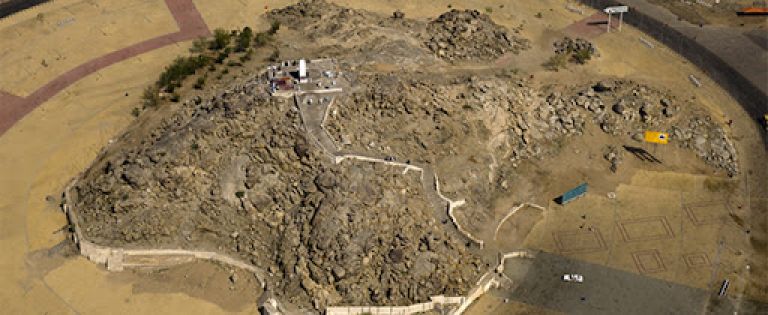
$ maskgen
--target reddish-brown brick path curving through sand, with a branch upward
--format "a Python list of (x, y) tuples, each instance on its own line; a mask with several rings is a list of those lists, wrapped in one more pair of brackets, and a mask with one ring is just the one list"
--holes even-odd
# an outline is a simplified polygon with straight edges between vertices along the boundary
[(37, 106), (91, 73), (163, 46), (210, 34), (192, 0), (165, 0), (165, 4), (179, 26), (178, 32), (151, 38), (92, 59), (59, 75), (27, 97), (0, 91), (0, 135)]

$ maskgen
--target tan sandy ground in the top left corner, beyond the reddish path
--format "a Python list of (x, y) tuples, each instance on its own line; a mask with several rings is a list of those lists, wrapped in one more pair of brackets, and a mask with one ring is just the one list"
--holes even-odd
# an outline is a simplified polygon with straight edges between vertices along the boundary
[(163, 0), (82, 1), (0, 26), (0, 87), (26, 96), (94, 57), (175, 31)]

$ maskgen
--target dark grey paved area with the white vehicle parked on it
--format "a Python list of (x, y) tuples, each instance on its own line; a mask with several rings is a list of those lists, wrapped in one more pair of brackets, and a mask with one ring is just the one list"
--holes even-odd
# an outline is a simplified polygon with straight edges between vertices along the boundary
[[(567, 314), (733, 314), (737, 309), (729, 299), (715, 298), (710, 305), (708, 290), (551, 253), (510, 259), (505, 273), (513, 288), (492, 294)], [(565, 273), (582, 274), (584, 283), (563, 282)], [(768, 312), (768, 304), (746, 301), (738, 310), (761, 314)]]

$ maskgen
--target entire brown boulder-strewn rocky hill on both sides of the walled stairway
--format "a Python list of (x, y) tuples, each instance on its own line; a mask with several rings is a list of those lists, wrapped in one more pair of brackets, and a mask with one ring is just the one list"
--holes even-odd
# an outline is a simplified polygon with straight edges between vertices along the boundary
[[(522, 161), (559, 154), (590, 124), (628, 142), (669, 131), (712, 167), (739, 172), (723, 129), (671, 91), (627, 80), (542, 87), (514, 71), (453, 69), (527, 45), (477, 11), (418, 21), (315, 0), (268, 16), (301, 39), (278, 36), (275, 46), (331, 54), (352, 81), (325, 124), (339, 149), (435, 169), (449, 198), (466, 199), (457, 217), (472, 231), (493, 223), (493, 204), (515, 188)], [(372, 63), (413, 68), (365, 67)], [(444, 68), (434, 75), (426, 64)], [(264, 68), (246, 65), (248, 79), (210, 97), (142, 114), (74, 187), (85, 237), (227, 253), (264, 270), (281, 301), (304, 309), (465, 294), (487, 266), (436, 222), (418, 175), (335, 164), (293, 99), (269, 96)]]

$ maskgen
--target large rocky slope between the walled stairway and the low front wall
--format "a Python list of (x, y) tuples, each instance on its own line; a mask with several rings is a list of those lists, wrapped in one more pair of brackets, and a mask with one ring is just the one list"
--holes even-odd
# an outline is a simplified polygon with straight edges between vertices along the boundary
[(418, 175), (334, 164), (261, 86), (185, 102), (113, 144), (73, 189), (84, 237), (239, 257), (305, 308), (466, 293), (479, 260), (432, 217)]

